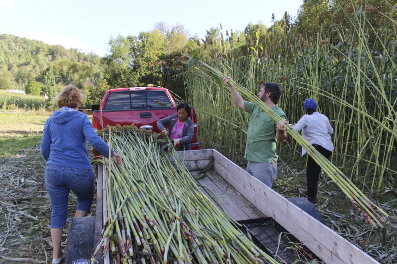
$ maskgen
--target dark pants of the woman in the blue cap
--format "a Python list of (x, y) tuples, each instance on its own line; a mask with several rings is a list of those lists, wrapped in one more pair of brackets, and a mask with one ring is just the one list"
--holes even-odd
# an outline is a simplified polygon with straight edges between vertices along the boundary
[[(324, 149), (322, 146), (313, 144), (312, 145), (321, 155), (325, 158), (330, 158), (332, 152)], [(306, 163), (306, 180), (307, 180), (307, 199), (310, 201), (316, 200), (317, 188), (319, 186), (321, 167), (314, 161), (310, 155), (307, 158)]]

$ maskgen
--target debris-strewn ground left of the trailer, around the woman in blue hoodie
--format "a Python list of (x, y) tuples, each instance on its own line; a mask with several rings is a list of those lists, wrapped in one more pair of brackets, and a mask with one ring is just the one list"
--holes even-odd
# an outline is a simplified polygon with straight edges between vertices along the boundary
[[(51, 205), (44, 171), (45, 160), (39, 146), (0, 159), (0, 263), (51, 263)], [(69, 218), (75, 205), (70, 194)], [(91, 213), (94, 212), (92, 207)], [(63, 248), (66, 248), (67, 228)]]

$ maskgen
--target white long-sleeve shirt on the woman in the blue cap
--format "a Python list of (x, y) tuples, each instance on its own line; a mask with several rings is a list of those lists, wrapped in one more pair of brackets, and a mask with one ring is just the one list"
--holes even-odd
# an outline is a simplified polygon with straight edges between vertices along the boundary
[[(331, 141), (331, 134), (333, 128), (330, 120), (324, 114), (313, 112), (312, 114), (305, 114), (293, 127), (295, 131), (302, 130), (302, 137), (312, 144), (318, 144), (326, 150), (333, 151), (333, 144)], [(302, 148), (302, 156), (306, 150)]]

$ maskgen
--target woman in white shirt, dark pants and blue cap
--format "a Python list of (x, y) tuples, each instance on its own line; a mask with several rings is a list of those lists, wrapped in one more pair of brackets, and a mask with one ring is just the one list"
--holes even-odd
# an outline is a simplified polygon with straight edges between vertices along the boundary
[[(329, 158), (333, 151), (331, 134), (333, 128), (330, 120), (324, 114), (316, 112), (317, 103), (308, 98), (303, 104), (306, 114), (292, 128), (299, 132), (302, 130), (302, 137), (310, 143), (325, 158)], [(302, 156), (306, 150), (302, 148)], [(308, 157), (306, 163), (307, 190), (302, 188), (299, 191), (307, 196), (307, 200), (312, 204), (317, 203), (317, 189), (319, 184), (321, 167), (312, 157)]]

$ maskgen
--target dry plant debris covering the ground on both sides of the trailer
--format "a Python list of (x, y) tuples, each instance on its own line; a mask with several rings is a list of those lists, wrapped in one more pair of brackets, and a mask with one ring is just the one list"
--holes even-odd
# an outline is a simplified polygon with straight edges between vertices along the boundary
[[(39, 146), (0, 159), (0, 263), (50, 263), (51, 206), (44, 170)], [(305, 186), (305, 180), (304, 172), (291, 171), (281, 164), (273, 188), (285, 197), (298, 196), (296, 182)], [(382, 205), (393, 216), (386, 230), (372, 228), (330, 179), (325, 176), (320, 182), (317, 208), (327, 226), (381, 263), (397, 262), (396, 205), (396, 200)], [(95, 201), (91, 209), (95, 214)], [(74, 211), (75, 198), (71, 194), (69, 218)], [(64, 248), (66, 233), (67, 226)]]

